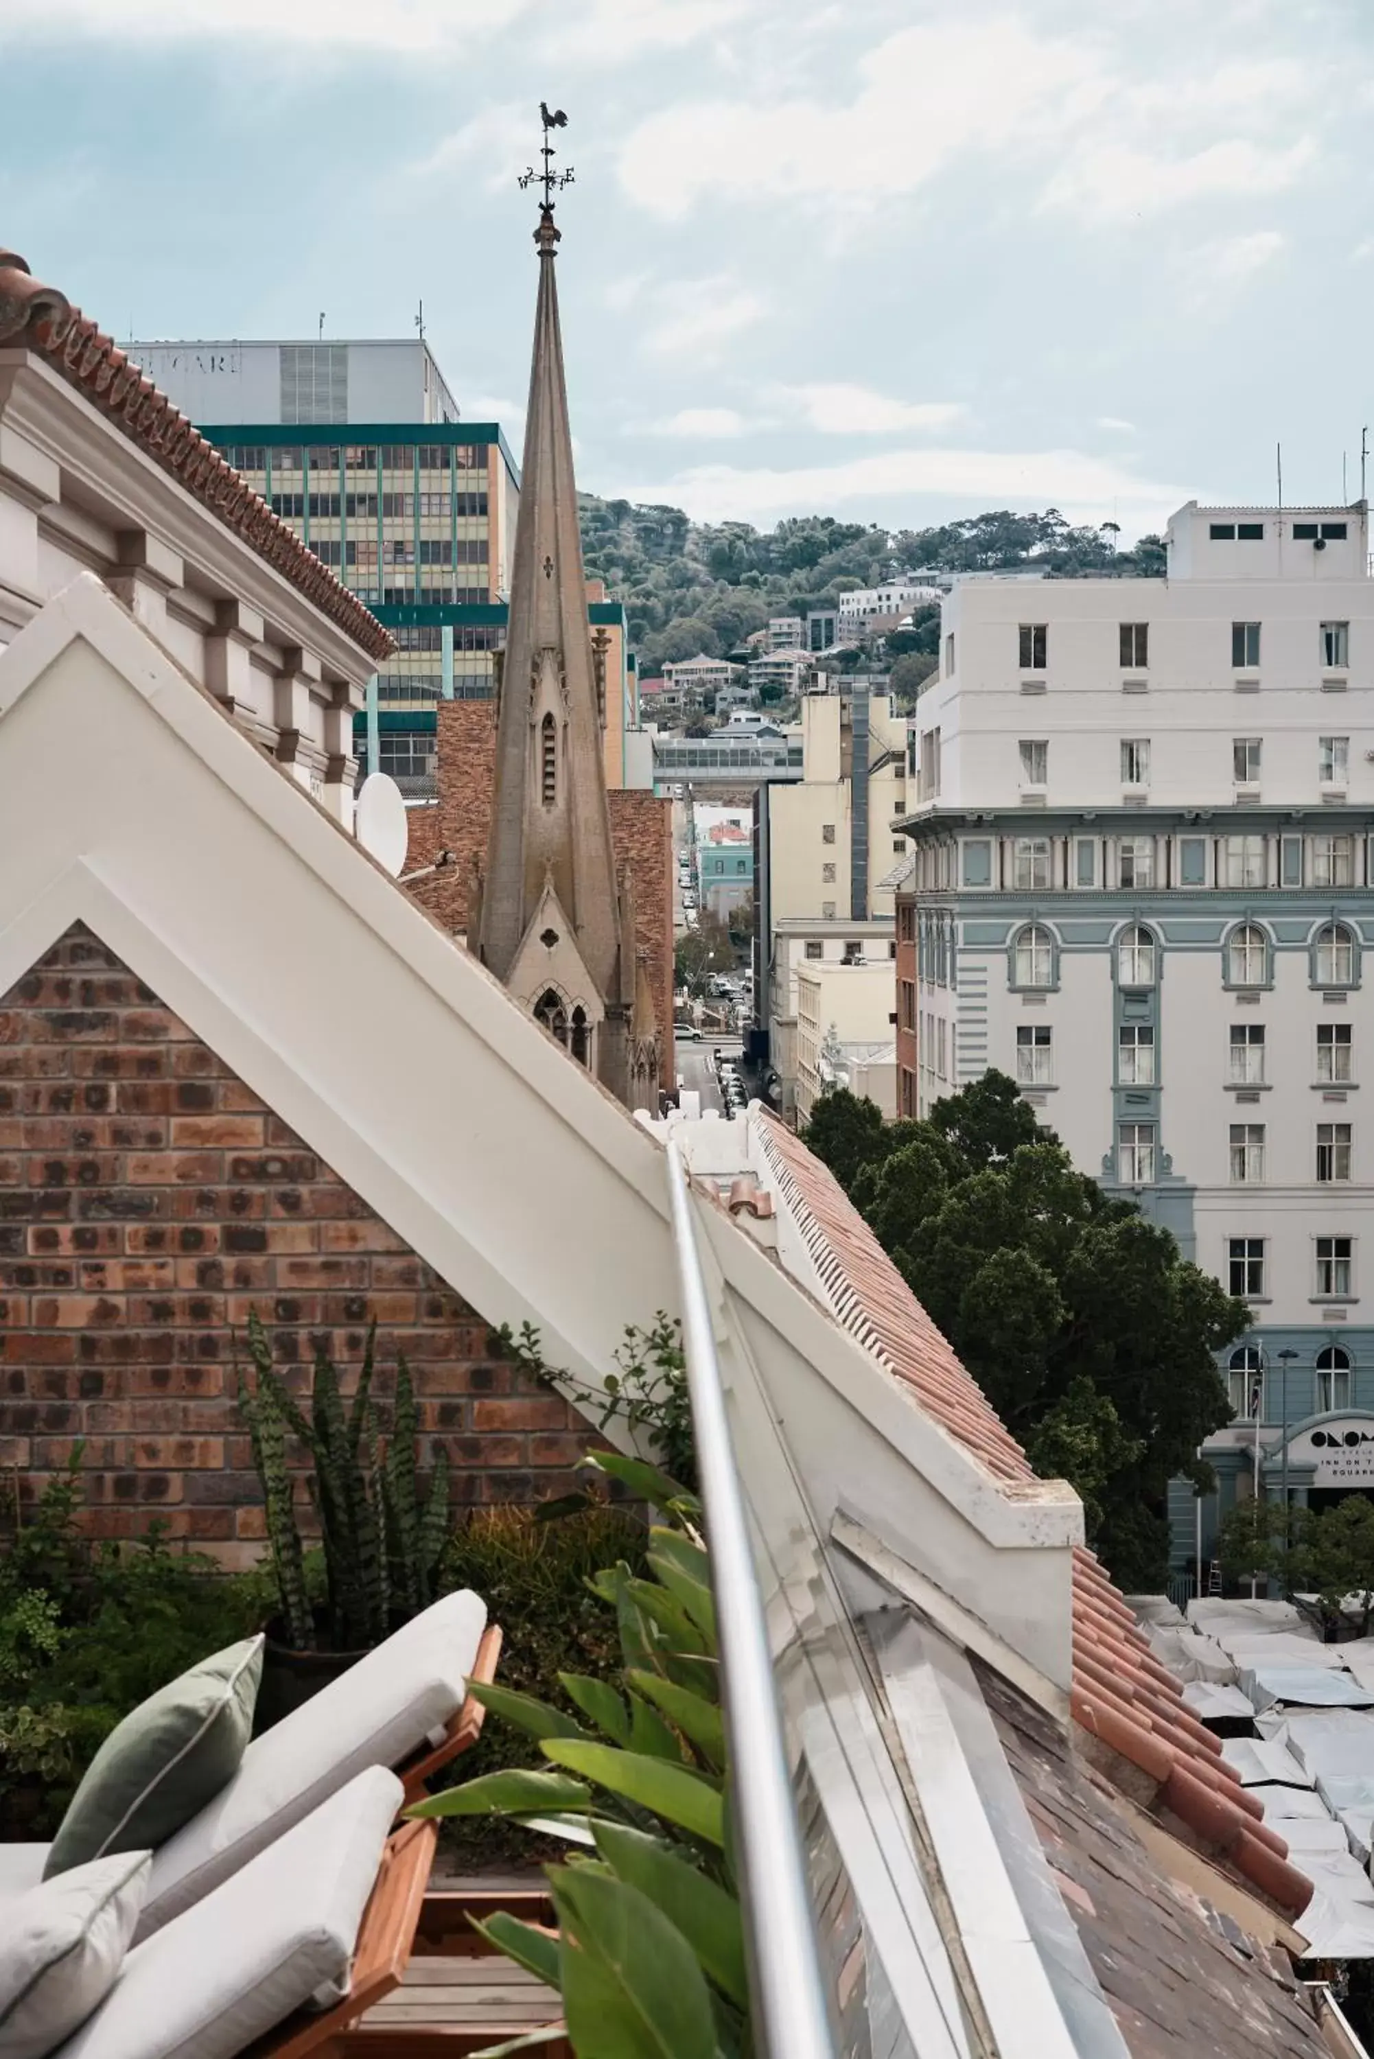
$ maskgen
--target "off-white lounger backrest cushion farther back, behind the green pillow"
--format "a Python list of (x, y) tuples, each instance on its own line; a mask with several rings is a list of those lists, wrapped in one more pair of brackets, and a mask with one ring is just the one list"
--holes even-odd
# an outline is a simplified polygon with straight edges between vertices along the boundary
[(398, 1767), (468, 1692), (486, 1604), (463, 1590), (414, 1616), (311, 1701), (253, 1738), (229, 1787), (152, 1859), (136, 1938), (245, 1865), (363, 1767)]

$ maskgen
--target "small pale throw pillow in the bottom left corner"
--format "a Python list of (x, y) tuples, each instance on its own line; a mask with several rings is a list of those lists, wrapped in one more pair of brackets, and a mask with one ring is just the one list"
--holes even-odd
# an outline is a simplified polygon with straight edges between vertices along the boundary
[(47, 2059), (119, 1977), (148, 1888), (150, 1851), (89, 1859), (29, 1888), (0, 1929), (0, 2053)]

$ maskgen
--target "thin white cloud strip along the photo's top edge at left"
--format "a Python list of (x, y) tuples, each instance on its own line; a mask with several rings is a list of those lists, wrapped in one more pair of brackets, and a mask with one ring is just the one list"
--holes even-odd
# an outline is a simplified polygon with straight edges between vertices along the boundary
[(72, 37), (441, 49), (503, 29), (531, 0), (4, 0), (0, 41)]

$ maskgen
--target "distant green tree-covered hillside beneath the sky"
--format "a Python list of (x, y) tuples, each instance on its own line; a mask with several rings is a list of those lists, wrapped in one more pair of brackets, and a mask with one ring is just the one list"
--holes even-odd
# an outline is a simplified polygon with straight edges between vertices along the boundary
[[(1001, 509), (935, 529), (880, 529), (801, 515), (775, 529), (744, 521), (694, 523), (682, 509), (634, 507), (581, 496), (587, 572), (624, 601), (630, 644), (645, 673), (672, 659), (725, 657), (768, 616), (834, 605), (851, 587), (873, 587), (898, 572), (1044, 570), (1055, 579), (1086, 574), (1158, 577), (1164, 544), (1141, 537), (1119, 552), (1112, 523), (1073, 527), (1057, 509), (1011, 515)], [(908, 684), (933, 669), (937, 612), (915, 624), (913, 640), (890, 642), (888, 657), (913, 657)], [(929, 649), (927, 649), (929, 647)]]

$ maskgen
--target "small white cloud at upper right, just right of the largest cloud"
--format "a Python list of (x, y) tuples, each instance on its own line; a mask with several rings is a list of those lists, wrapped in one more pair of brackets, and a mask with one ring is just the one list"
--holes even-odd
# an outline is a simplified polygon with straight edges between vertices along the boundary
[(1162, 156), (1129, 144), (1100, 144), (1079, 152), (1044, 187), (1046, 208), (1065, 208), (1086, 222), (1121, 222), (1160, 214), (1184, 200), (1279, 194), (1316, 156), (1308, 140), (1287, 150), (1252, 142), (1213, 142), (1191, 156)]

